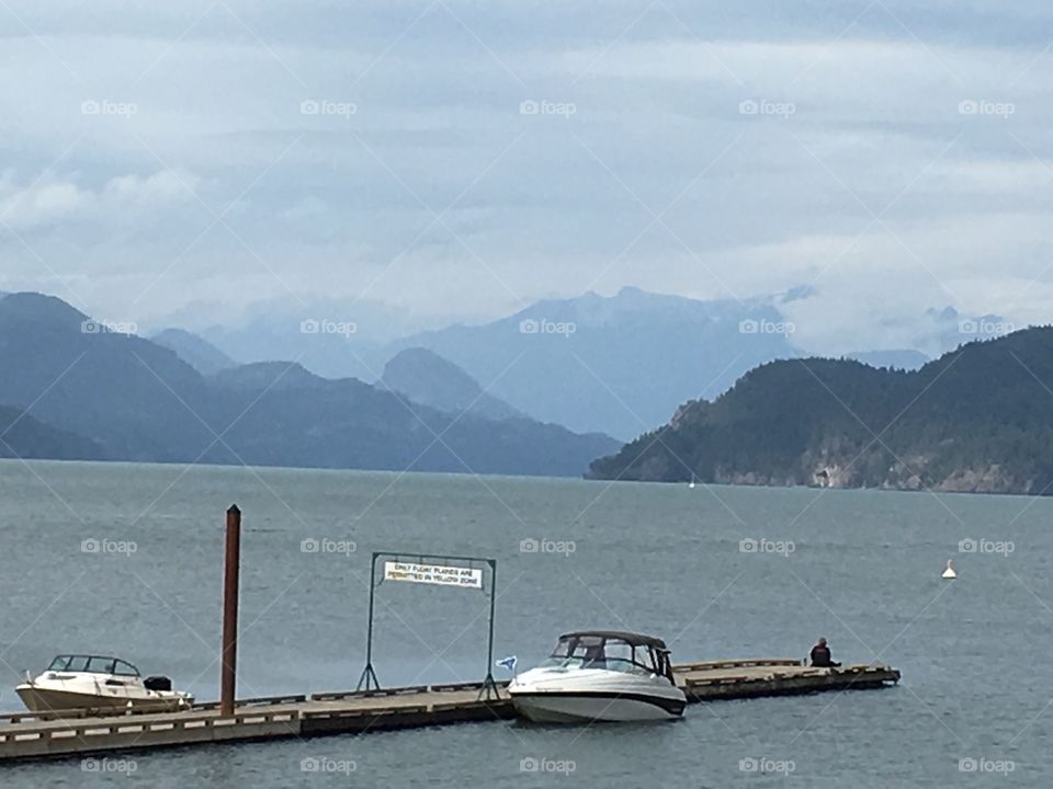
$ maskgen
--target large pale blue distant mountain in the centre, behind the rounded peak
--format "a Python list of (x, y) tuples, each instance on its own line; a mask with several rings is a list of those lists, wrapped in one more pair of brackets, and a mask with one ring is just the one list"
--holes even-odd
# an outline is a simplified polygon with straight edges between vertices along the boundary
[(626, 287), (613, 297), (539, 301), (394, 347), (435, 352), (542, 422), (629, 438), (758, 364), (801, 355), (783, 323), (773, 299), (699, 301)]

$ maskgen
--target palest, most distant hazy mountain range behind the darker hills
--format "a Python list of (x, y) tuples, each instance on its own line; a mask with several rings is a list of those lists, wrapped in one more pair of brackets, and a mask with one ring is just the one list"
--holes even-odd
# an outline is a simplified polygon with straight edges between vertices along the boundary
[[(498, 320), (428, 331), (415, 329), (420, 321), (405, 310), (376, 302), (268, 302), (249, 309), (240, 322), (233, 318), (229, 325), (202, 330), (201, 338), (242, 363), (287, 358), (326, 378), (354, 377), (385, 387), (384, 379), (397, 375), (385, 369), (387, 363), (404, 351), (423, 348), (513, 411), (629, 441), (668, 421), (678, 403), (726, 391), (757, 365), (813, 355), (793, 320), (814, 320), (816, 308), (809, 305), (816, 296), (801, 286), (741, 300), (700, 300), (625, 287), (613, 296), (543, 299)], [(1003, 324), (995, 316), (930, 309), (875, 328), (875, 342), (887, 336), (907, 344), (847, 355), (879, 367), (916, 369), (983, 335), (970, 333), (970, 325)], [(188, 354), (183, 358), (192, 361)], [(422, 356), (416, 362), (435, 363)], [(423, 391), (414, 393), (427, 402)]]

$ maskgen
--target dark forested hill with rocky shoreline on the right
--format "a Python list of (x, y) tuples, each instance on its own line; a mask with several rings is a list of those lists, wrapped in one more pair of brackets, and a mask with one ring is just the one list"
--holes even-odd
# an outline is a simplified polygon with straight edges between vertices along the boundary
[(771, 362), (592, 464), (607, 480), (1048, 493), (1053, 328), (974, 341), (917, 370)]

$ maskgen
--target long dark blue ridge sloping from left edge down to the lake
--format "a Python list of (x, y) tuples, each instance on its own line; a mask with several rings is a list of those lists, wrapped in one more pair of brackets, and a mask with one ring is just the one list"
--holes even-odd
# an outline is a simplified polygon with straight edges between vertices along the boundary
[(126, 460), (578, 476), (608, 436), (460, 420), (353, 378), (272, 362), (202, 376), (173, 351), (106, 331), (64, 301), (0, 301), (0, 402)]

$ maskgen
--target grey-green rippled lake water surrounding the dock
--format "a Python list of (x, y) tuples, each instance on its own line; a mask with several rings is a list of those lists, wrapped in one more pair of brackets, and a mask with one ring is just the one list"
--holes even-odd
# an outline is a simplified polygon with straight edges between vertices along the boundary
[[(354, 687), (374, 550), (496, 558), (495, 652), (521, 666), (578, 628), (653, 632), (682, 662), (801, 658), (826, 636), (836, 660), (884, 661), (903, 681), (694, 705), (658, 725), (494, 722), (132, 753), (100, 771), (26, 764), (0, 769), (4, 787), (1053, 782), (1053, 502), (1017, 496), (3, 461), (0, 708), (21, 707), (23, 670), (72, 651), (215, 698), (233, 502), (240, 696)], [(948, 558), (958, 581), (939, 578)], [(482, 679), (487, 606), (477, 591), (382, 585), (381, 681)]]

